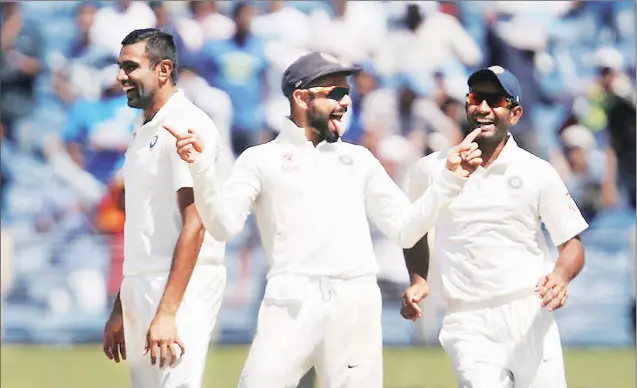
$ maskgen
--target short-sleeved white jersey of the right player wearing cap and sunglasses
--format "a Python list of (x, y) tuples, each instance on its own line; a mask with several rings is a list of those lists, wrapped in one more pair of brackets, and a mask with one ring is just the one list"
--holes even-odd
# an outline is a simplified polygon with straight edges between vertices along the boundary
[[(440, 152), (422, 158), (412, 171), (410, 196), (426, 190), (444, 165)], [(555, 169), (509, 136), (498, 158), (478, 167), (435, 224), (432, 252), (445, 297), (473, 302), (534, 289), (554, 267), (542, 223), (556, 246), (588, 227)]]

